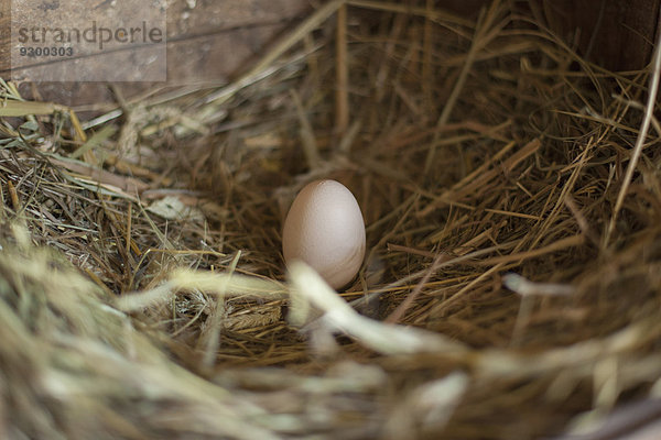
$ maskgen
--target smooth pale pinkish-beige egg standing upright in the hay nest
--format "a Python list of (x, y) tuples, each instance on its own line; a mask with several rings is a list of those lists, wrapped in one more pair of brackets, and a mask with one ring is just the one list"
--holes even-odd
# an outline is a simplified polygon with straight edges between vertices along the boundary
[(354, 279), (365, 257), (365, 221), (351, 191), (330, 179), (307, 184), (284, 220), (282, 253), (288, 265), (305, 262), (335, 289)]

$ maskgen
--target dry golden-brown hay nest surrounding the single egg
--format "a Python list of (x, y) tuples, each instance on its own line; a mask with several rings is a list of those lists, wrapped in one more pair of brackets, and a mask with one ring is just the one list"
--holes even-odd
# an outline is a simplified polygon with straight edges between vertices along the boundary
[[(84, 122), (1, 84), (0, 437), (654, 429), (659, 68), (513, 3), (343, 4), (226, 87)], [(339, 296), (280, 253), (319, 177), (367, 224)]]

